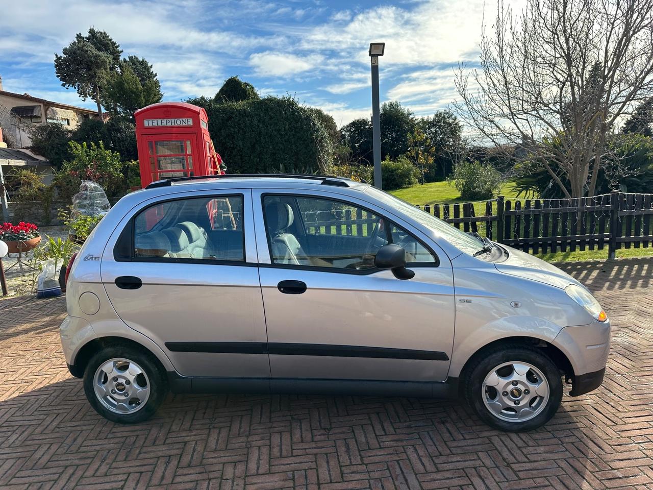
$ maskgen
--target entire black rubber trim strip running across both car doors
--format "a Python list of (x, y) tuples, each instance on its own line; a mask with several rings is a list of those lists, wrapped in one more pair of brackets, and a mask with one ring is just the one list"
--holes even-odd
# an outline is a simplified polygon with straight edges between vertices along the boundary
[(213, 352), (231, 354), (317, 355), (366, 357), (375, 359), (419, 359), (449, 361), (445, 352), (389, 347), (338, 346), (334, 344), (286, 344), (283, 342), (166, 342), (173, 352)]

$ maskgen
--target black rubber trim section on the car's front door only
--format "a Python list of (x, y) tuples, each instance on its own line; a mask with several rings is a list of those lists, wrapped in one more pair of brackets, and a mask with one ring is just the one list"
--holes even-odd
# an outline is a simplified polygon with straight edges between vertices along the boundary
[(375, 357), (379, 359), (426, 359), (449, 361), (445, 352), (389, 347), (337, 346), (332, 344), (268, 344), (270, 354), (320, 355), (330, 357)]

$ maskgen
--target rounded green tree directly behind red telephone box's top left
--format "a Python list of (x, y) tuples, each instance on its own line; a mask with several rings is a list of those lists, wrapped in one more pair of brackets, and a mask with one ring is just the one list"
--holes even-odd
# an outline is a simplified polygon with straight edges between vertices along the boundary
[(119, 63), (119, 71), (106, 77), (102, 103), (113, 114), (134, 120), (136, 110), (161, 102), (161, 84), (152, 65), (144, 58), (129, 56)]

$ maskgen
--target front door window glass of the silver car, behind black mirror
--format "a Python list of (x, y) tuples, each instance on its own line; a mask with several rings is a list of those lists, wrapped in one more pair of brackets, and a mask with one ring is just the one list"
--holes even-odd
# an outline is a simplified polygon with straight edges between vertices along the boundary
[(266, 233), (272, 263), (370, 270), (379, 248), (396, 243), (406, 261), (435, 263), (417, 238), (374, 212), (343, 201), (266, 195)]

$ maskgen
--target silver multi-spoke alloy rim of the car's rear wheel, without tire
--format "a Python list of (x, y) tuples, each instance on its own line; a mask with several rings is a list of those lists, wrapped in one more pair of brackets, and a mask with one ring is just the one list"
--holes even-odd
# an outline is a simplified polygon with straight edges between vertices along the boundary
[(133, 414), (150, 398), (150, 380), (134, 361), (116, 357), (95, 371), (93, 389), (97, 399), (116, 414)]

